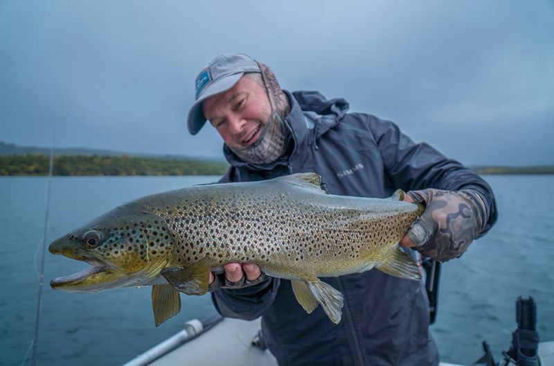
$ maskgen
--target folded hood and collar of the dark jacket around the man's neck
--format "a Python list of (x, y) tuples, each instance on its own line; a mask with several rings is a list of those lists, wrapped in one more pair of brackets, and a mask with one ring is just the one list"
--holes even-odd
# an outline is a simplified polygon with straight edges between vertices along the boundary
[[(278, 165), (287, 165), (289, 157), (302, 149), (312, 146), (322, 134), (333, 128), (348, 112), (349, 104), (343, 98), (327, 99), (319, 92), (297, 91), (283, 92), (289, 98), (290, 112), (285, 117), (289, 130), (292, 132), (292, 148), (284, 157), (268, 164), (252, 164), (243, 162), (225, 143), (223, 153), (232, 166), (249, 171), (271, 171)], [(311, 113), (310, 113), (311, 112)], [(310, 121), (308, 121), (308, 119)]]

